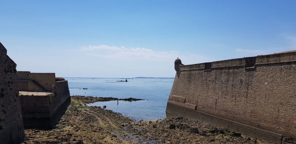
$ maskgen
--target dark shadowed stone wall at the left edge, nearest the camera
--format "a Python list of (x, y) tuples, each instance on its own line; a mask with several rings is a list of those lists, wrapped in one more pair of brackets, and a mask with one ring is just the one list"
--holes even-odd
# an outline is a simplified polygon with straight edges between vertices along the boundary
[(21, 143), (24, 138), (16, 64), (0, 43), (0, 143)]

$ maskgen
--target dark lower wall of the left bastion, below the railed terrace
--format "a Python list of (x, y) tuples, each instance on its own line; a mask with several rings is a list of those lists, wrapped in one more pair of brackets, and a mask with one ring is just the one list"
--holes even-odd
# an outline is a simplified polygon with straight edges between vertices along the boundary
[(56, 92), (47, 96), (21, 95), (25, 128), (51, 129), (71, 103), (68, 81), (57, 81)]

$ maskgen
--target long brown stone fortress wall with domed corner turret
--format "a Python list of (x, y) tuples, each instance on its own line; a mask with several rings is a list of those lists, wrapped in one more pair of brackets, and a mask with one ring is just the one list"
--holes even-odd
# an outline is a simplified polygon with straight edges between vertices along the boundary
[(296, 137), (296, 52), (183, 65), (167, 113), (281, 143)]

